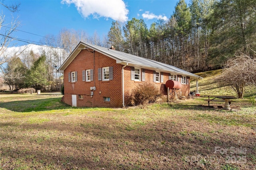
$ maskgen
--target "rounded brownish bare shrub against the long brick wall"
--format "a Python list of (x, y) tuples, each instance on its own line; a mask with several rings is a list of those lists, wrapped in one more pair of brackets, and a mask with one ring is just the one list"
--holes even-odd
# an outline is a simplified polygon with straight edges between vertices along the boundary
[(151, 83), (139, 84), (132, 90), (134, 105), (156, 102), (159, 96), (158, 88)]

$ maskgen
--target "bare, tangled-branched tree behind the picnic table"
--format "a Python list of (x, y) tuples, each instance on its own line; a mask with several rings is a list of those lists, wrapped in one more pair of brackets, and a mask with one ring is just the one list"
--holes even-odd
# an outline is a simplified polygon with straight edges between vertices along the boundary
[(244, 54), (229, 59), (216, 80), (222, 85), (231, 86), (238, 94), (238, 98), (243, 98), (245, 86), (256, 86), (256, 59)]

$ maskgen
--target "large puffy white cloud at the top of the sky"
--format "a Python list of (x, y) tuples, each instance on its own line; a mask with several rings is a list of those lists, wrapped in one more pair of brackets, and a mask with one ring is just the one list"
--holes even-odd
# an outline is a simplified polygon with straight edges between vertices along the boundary
[(105, 17), (113, 20), (127, 21), (129, 10), (123, 0), (62, 0), (62, 4), (74, 4), (84, 17)]

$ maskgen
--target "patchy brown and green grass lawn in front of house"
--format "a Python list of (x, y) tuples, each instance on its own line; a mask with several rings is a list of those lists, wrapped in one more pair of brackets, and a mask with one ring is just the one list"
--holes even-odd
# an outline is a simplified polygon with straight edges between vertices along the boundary
[[(0, 96), (3, 170), (256, 168), (256, 107), (242, 107), (246, 101), (236, 102), (233, 112), (204, 107), (200, 98), (110, 109), (68, 107), (58, 96), (22, 96)], [(28, 96), (34, 111), (18, 111), (14, 106), (25, 105)]]

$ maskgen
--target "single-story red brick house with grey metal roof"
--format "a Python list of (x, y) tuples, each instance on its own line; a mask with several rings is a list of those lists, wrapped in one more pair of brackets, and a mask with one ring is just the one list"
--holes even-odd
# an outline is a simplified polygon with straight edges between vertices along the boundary
[(79, 107), (125, 106), (125, 94), (143, 82), (155, 84), (167, 95), (165, 82), (170, 79), (180, 82), (182, 95), (188, 96), (190, 80), (201, 78), (168, 64), (83, 42), (59, 71), (64, 73), (64, 102)]

